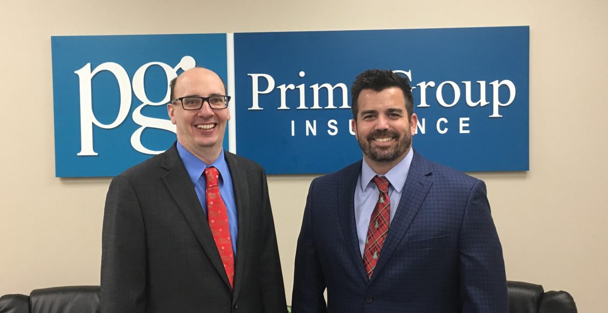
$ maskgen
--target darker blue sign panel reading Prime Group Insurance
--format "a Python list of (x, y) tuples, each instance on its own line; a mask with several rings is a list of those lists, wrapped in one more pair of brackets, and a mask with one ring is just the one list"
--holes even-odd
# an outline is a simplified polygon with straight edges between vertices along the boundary
[(413, 147), (463, 171), (528, 170), (529, 27), (237, 33), (237, 153), (270, 174), (361, 158), (350, 85), (366, 69), (412, 81)]

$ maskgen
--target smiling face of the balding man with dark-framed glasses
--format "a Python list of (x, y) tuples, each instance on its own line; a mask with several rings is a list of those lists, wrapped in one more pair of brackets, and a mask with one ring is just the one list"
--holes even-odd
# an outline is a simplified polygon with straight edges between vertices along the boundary
[[(189, 69), (175, 81), (175, 98), (213, 95), (226, 95), (226, 89), (219, 76), (208, 69)], [(181, 101), (175, 101), (167, 105), (167, 112), (171, 123), (176, 125), (178, 141), (186, 150), (205, 162), (217, 159), (222, 150), (226, 123), (230, 120), (228, 108), (211, 109), (205, 101), (201, 109), (187, 111), (182, 108)]]

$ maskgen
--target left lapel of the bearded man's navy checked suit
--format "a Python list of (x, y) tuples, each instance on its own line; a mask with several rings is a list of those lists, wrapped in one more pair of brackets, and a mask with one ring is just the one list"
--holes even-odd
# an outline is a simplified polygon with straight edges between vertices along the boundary
[(361, 161), (345, 168), (345, 174), (337, 186), (337, 201), (340, 226), (344, 232), (344, 239), (353, 258), (353, 263), (362, 278), (367, 279), (361, 249), (359, 249), (359, 236), (357, 225), (354, 221), (354, 188), (357, 186), (359, 173), (361, 172)]

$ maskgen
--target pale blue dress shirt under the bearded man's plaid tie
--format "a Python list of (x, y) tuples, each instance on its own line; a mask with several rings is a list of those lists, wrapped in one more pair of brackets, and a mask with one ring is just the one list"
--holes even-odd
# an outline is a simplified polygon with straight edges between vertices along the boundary
[[(390, 198), (390, 220), (389, 220), (389, 232), (390, 222), (395, 217), (397, 207), (399, 206), (399, 200), (401, 200), (401, 191), (403, 185), (406, 183), (407, 174), (410, 172), (410, 165), (412, 165), (413, 149), (407, 153), (401, 162), (397, 163), (395, 167), (391, 168), (385, 176), (389, 182), (389, 198)], [(354, 221), (357, 224), (357, 236), (359, 237), (359, 249), (361, 249), (361, 257), (363, 257), (363, 250), (365, 249), (365, 237), (367, 237), (367, 230), (370, 227), (371, 213), (378, 202), (378, 196), (380, 191), (376, 184), (371, 179), (376, 176), (376, 172), (371, 169), (370, 165), (363, 159), (361, 166), (361, 173), (359, 173), (359, 179), (357, 181), (357, 187), (354, 188)]]

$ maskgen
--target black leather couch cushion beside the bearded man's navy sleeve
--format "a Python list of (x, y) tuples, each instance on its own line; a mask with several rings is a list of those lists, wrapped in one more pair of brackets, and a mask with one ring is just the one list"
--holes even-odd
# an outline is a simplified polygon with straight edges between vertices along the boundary
[(507, 281), (509, 313), (536, 313), (544, 289), (541, 285)]

